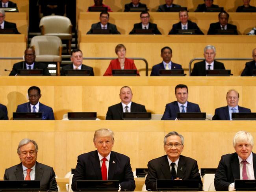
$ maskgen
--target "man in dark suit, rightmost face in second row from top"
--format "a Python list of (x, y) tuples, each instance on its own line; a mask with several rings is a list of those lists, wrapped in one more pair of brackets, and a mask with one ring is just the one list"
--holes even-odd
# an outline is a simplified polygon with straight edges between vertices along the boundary
[[(221, 34), (218, 30), (233, 30), (230, 35), (238, 35), (237, 27), (228, 23), (229, 14), (226, 11), (219, 13), (219, 22), (211, 23), (207, 35)], [(224, 32), (224, 31), (223, 31)]]

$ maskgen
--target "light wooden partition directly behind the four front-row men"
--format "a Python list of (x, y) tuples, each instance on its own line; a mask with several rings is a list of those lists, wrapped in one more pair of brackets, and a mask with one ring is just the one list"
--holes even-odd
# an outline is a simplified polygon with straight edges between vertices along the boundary
[(20, 162), (20, 140), (31, 138), (39, 146), (37, 161), (64, 177), (76, 166), (78, 155), (95, 150), (94, 131), (103, 127), (114, 131), (113, 151), (130, 157), (133, 170), (165, 155), (163, 138), (170, 131), (184, 136), (182, 155), (196, 159), (199, 168), (216, 168), (221, 155), (234, 152), (235, 133), (246, 130), (255, 138), (254, 126), (254, 121), (1, 121), (0, 155), (5, 158), (0, 160), (0, 175)]

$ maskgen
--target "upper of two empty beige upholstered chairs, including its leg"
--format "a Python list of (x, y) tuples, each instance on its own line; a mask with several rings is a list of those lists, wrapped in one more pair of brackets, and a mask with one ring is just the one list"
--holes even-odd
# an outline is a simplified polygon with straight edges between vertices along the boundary
[(67, 50), (71, 53), (72, 24), (69, 18), (49, 15), (41, 18), (39, 27), (42, 35), (53, 35), (67, 41)]

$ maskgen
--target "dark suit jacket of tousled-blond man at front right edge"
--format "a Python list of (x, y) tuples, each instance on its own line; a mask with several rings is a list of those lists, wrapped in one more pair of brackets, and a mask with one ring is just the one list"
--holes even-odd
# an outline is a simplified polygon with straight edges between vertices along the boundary
[[(252, 153), (253, 171), (256, 176), (256, 154)], [(240, 179), (239, 160), (237, 153), (226, 154), (221, 157), (214, 178), (216, 191), (228, 191), (228, 185)]]

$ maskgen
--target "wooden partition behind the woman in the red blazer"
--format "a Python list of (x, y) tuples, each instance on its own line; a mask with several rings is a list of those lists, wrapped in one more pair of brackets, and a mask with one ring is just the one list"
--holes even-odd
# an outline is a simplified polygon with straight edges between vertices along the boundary
[[(84, 57), (117, 57), (115, 46), (126, 46), (126, 57), (143, 57), (148, 61), (149, 75), (153, 65), (162, 62), (161, 48), (169, 46), (173, 50), (172, 61), (182, 65), (188, 75), (189, 61), (195, 57), (204, 57), (204, 47), (212, 44), (216, 47), (216, 57), (251, 58), (256, 39), (248, 35), (83, 35), (80, 49)], [(109, 65), (108, 60), (86, 60), (92, 66), (96, 76), (102, 76)], [(239, 76), (247, 61), (223, 61), (226, 69)], [(145, 76), (145, 63), (135, 61), (141, 76)]]

